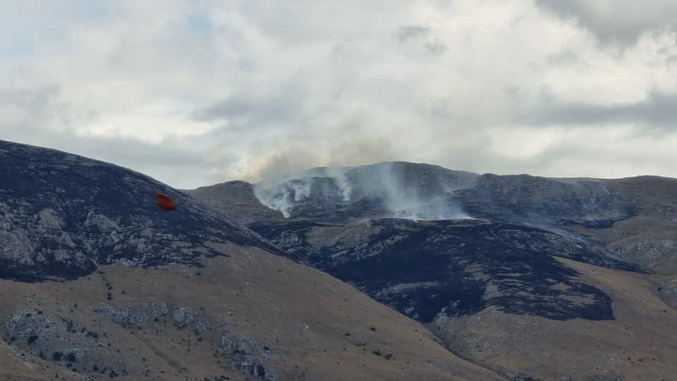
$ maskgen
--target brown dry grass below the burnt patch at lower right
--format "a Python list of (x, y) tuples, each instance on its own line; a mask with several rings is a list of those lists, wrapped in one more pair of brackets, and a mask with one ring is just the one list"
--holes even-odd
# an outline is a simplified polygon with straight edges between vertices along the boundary
[(561, 259), (614, 300), (616, 320), (556, 321), (493, 308), (453, 318), (451, 348), (489, 368), (542, 380), (674, 380), (677, 311), (654, 293), (652, 277)]

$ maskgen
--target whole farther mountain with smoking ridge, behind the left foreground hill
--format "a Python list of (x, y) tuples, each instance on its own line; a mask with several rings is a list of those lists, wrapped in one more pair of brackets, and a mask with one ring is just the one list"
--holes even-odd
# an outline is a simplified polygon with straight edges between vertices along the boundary
[(388, 162), (188, 193), (504, 375), (677, 371), (677, 180)]

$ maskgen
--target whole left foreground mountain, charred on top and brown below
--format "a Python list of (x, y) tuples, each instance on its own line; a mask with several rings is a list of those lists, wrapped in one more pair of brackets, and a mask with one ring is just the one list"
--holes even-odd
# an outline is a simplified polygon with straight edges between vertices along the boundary
[(508, 377), (286, 256), (150, 177), (0, 141), (0, 379)]

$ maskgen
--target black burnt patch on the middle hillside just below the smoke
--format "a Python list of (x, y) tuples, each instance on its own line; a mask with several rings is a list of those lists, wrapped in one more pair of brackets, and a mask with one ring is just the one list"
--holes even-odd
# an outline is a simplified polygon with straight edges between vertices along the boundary
[(555, 257), (638, 270), (609, 258), (599, 244), (482, 220), (384, 219), (352, 227), (295, 221), (250, 227), (293, 258), (423, 323), (487, 306), (555, 320), (613, 319), (609, 296), (578, 280), (578, 273)]

